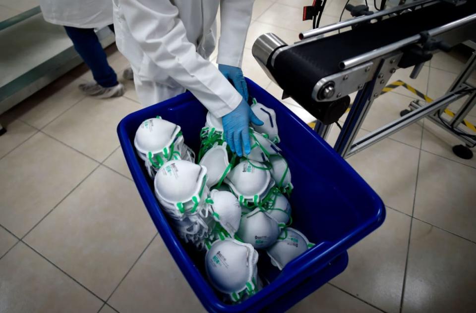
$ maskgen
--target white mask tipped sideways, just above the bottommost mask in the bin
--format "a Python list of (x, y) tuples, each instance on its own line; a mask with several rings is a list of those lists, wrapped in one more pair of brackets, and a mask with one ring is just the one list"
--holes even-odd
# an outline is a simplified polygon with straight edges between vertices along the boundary
[(234, 237), (241, 219), (241, 207), (237, 198), (228, 191), (212, 190), (206, 202), (213, 211), (214, 219)]

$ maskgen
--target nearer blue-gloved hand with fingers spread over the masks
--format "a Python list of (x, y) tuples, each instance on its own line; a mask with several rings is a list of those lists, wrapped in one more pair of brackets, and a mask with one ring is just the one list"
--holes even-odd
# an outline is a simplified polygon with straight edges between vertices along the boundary
[(250, 121), (258, 126), (263, 125), (244, 99), (233, 111), (222, 117), (225, 139), (232, 152), (236, 152), (239, 157), (243, 155), (241, 146), (244, 147), (245, 155), (251, 151), (248, 129)]

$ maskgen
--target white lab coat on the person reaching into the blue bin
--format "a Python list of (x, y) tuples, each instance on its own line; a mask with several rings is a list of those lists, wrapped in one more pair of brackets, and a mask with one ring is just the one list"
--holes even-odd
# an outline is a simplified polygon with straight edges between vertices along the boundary
[(217, 63), (241, 66), (253, 1), (113, 0), (116, 44), (132, 66), (141, 103), (187, 89), (217, 117), (235, 109), (242, 97), (208, 57), (220, 5)]

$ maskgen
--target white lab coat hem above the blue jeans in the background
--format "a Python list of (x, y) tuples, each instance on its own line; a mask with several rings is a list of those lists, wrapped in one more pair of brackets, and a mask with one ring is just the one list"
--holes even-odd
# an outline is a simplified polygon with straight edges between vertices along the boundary
[(102, 28), (113, 23), (111, 0), (40, 0), (47, 22), (77, 28)]

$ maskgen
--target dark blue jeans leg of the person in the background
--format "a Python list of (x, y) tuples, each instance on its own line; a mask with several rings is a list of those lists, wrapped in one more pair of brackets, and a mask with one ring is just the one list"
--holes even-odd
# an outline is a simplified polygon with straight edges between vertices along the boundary
[[(66, 34), (73, 42), (74, 49), (93, 72), (94, 80), (103, 87), (113, 87), (118, 84), (118, 76), (109, 66), (106, 52), (99, 43), (93, 28), (76, 28), (64, 26)], [(109, 25), (114, 32), (114, 26)]]

